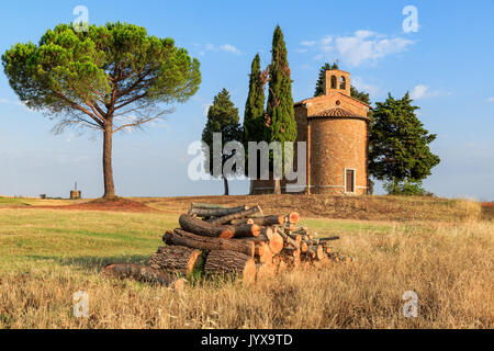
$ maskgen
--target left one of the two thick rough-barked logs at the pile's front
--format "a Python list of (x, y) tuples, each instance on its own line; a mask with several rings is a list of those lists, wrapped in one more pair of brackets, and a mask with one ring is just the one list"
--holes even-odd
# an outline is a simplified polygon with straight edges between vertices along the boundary
[(184, 246), (162, 246), (149, 259), (149, 267), (158, 271), (177, 272), (189, 276), (202, 270), (202, 252)]

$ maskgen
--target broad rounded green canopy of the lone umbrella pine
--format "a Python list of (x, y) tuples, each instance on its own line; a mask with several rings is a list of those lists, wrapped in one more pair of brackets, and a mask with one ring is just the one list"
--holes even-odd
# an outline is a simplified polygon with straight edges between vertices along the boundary
[[(201, 82), (199, 61), (171, 38), (158, 38), (127, 23), (79, 32), (59, 24), (38, 45), (16, 44), (2, 56), (10, 86), (31, 109), (79, 125), (119, 129), (126, 113), (143, 123), (184, 102)], [(131, 111), (131, 112), (130, 112)]]

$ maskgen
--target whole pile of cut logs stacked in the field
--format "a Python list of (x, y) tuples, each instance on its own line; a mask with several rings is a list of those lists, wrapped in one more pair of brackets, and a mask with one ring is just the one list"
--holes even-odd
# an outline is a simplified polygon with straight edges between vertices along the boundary
[[(182, 290), (183, 276), (235, 274), (246, 283), (289, 268), (351, 262), (329, 246), (339, 237), (318, 238), (297, 227), (300, 215), (263, 215), (259, 205), (226, 207), (193, 203), (179, 218), (180, 228), (165, 233), (165, 247), (148, 265), (110, 264), (104, 276), (134, 278)], [(181, 276), (181, 278), (180, 278)]]

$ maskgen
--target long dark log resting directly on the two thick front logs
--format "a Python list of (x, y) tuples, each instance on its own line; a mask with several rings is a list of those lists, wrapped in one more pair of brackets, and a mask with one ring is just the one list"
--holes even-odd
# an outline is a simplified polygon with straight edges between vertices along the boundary
[(181, 245), (194, 249), (236, 251), (249, 257), (254, 257), (255, 250), (254, 241), (203, 237), (182, 229), (167, 231), (162, 241), (167, 245)]

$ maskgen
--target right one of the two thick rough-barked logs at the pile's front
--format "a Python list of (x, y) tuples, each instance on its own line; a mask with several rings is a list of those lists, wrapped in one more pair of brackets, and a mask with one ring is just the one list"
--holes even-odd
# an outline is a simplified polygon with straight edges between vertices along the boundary
[(204, 267), (206, 274), (238, 274), (245, 283), (256, 280), (256, 262), (251, 257), (235, 251), (213, 250)]

